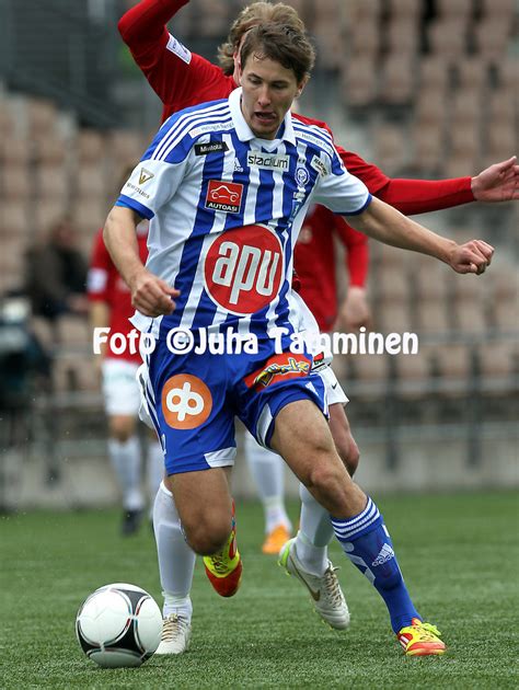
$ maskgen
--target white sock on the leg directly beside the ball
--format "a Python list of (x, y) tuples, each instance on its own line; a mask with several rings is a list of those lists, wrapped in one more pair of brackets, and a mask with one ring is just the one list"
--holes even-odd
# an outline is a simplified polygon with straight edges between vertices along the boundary
[(189, 593), (195, 571), (195, 552), (187, 545), (171, 492), (160, 484), (153, 506), (153, 531), (159, 557), (164, 618), (176, 613), (191, 620)]

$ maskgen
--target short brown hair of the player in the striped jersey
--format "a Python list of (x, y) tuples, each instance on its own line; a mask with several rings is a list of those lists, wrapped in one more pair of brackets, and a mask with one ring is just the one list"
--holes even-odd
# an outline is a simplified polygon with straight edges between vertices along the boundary
[(315, 62), (315, 50), (304, 32), (274, 22), (253, 26), (247, 33), (240, 50), (242, 67), (252, 54), (292, 70), (298, 83), (310, 77)]

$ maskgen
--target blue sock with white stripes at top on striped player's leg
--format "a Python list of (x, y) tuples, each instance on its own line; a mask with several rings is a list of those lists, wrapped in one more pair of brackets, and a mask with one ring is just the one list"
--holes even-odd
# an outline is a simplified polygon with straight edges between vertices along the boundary
[(400, 572), (391, 537), (371, 498), (368, 496), (362, 513), (344, 520), (332, 518), (332, 525), (345, 554), (385, 601), (393, 631), (411, 625), (412, 618), (420, 618)]

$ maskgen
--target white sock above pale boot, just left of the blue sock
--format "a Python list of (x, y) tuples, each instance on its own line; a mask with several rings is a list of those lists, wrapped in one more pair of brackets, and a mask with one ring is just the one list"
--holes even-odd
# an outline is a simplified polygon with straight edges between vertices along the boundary
[(301, 519), (296, 539), (298, 559), (309, 573), (323, 575), (327, 566), (327, 545), (334, 537), (330, 513), (305, 486), (299, 484)]

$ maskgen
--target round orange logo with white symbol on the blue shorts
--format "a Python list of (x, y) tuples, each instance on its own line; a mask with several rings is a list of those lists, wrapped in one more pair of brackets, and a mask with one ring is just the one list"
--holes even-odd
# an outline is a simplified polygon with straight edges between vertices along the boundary
[(212, 410), (210, 390), (189, 373), (171, 377), (162, 389), (162, 412), (174, 429), (194, 429), (204, 424)]

